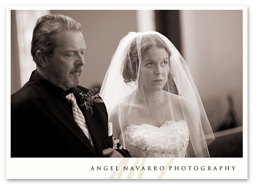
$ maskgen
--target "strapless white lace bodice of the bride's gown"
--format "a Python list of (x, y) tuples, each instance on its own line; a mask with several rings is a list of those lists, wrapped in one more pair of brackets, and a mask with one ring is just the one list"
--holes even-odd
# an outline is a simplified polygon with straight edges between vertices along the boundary
[(119, 135), (131, 157), (185, 157), (189, 143), (189, 127), (185, 120), (166, 121), (161, 127), (150, 124), (129, 125)]

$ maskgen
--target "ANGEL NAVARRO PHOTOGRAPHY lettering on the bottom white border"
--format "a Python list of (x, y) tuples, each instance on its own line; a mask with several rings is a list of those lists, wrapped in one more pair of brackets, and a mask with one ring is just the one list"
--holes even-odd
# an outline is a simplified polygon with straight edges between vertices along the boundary
[[(197, 171), (197, 170), (202, 170), (202, 171), (234, 171), (236, 166), (169, 166), (167, 170), (169, 171), (184, 171), (184, 170), (189, 170), (189, 171)], [(108, 170), (123, 170), (123, 171), (131, 171), (131, 170), (137, 170), (137, 171), (158, 171), (158, 170), (165, 170), (164, 166), (123, 166), (121, 168), (118, 168), (117, 166), (92, 166), (91, 171), (108, 171)]]

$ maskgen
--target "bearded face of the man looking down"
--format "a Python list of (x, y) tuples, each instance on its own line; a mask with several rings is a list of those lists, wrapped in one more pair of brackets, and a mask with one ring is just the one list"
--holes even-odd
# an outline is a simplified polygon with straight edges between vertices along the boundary
[(81, 32), (60, 32), (56, 47), (47, 60), (45, 75), (48, 81), (64, 90), (79, 84), (85, 49)]

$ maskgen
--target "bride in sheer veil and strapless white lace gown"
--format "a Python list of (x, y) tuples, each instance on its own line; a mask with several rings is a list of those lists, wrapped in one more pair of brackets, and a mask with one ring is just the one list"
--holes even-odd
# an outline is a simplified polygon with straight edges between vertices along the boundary
[(209, 157), (214, 136), (189, 68), (158, 32), (129, 32), (99, 94), (131, 157)]

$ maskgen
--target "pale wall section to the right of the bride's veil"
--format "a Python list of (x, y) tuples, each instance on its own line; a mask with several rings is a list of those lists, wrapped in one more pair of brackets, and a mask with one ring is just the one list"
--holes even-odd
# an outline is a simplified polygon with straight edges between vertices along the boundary
[(227, 112), (227, 95), (242, 124), (242, 11), (182, 10), (180, 17), (183, 57), (213, 129)]

